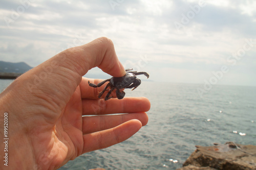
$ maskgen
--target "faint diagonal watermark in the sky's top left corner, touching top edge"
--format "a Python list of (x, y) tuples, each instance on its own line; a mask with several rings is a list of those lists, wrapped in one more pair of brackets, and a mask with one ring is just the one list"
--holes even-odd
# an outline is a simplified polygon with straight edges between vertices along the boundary
[(13, 23), (15, 20), (17, 20), (20, 15), (22, 15), (30, 6), (31, 3), (34, 2), (34, 0), (21, 0), (19, 1), (20, 5), (17, 6), (16, 9), (11, 9), (11, 14), (9, 16), (5, 16), (4, 20), (8, 27), (10, 27), (10, 24)]

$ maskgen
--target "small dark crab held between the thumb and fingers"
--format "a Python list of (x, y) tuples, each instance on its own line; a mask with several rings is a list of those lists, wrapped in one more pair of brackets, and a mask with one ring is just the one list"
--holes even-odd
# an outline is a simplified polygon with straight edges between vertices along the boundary
[[(121, 91), (120, 89), (123, 88), (133, 88), (132, 90), (136, 89), (140, 83), (141, 80), (137, 79), (136, 76), (137, 75), (145, 75), (147, 78), (150, 77), (150, 75), (148, 75), (146, 72), (137, 72), (137, 71), (131, 71), (133, 70), (133, 68), (129, 68), (126, 69), (126, 74), (123, 77), (112, 77), (111, 79), (106, 79), (103, 82), (99, 83), (99, 84), (93, 84), (90, 83), (90, 81), (88, 81), (89, 86), (91, 87), (100, 87), (102, 86), (105, 82), (109, 82), (109, 84), (107, 84), (105, 86), (105, 88), (99, 93), (99, 98), (101, 97), (101, 95), (105, 92), (105, 91), (109, 91), (108, 94), (106, 94), (105, 96), (105, 101), (109, 100), (111, 98), (113, 98), (113, 96), (110, 96), (111, 92), (116, 89), (116, 96), (118, 99), (123, 99), (125, 92)], [(110, 88), (110, 90), (108, 89)]]

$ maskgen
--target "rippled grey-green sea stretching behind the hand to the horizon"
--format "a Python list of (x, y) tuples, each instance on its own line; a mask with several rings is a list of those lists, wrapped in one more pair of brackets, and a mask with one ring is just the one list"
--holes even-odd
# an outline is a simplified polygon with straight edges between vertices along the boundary
[[(0, 80), (0, 91), (11, 80)], [(195, 151), (233, 141), (256, 145), (256, 87), (213, 85), (203, 95), (203, 84), (142, 81), (125, 96), (151, 101), (146, 126), (131, 138), (110, 148), (69, 161), (71, 169), (177, 169)]]

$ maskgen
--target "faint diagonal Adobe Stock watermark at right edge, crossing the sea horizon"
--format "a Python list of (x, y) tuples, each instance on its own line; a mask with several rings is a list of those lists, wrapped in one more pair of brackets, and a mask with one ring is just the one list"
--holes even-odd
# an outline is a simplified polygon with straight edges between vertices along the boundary
[[(237, 62), (245, 56), (246, 52), (250, 51), (255, 44), (256, 40), (245, 39), (243, 47), (241, 47), (236, 53), (232, 54), (231, 56), (228, 56), (226, 59), (227, 62), (230, 63), (231, 66), (236, 65)], [(203, 88), (197, 88), (197, 92), (201, 98), (203, 98), (203, 95), (209, 92), (212, 87), (216, 85), (224, 77), (224, 75), (227, 74), (227, 72), (229, 72), (229, 66), (222, 65), (219, 71), (212, 71), (213, 76), (210, 77), (209, 80), (204, 79)]]

